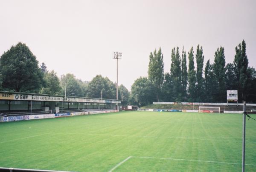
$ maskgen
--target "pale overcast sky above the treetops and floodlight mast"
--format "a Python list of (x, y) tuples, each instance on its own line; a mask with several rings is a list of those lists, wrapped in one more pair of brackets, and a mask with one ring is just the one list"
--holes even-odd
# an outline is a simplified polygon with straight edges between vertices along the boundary
[(227, 63), (244, 39), (256, 68), (255, 9), (255, 0), (0, 0), (0, 55), (23, 42), (58, 76), (116, 82), (112, 54), (120, 51), (119, 85), (128, 90), (147, 76), (149, 54), (159, 47), (169, 72), (176, 46), (202, 45), (204, 64), (223, 46)]

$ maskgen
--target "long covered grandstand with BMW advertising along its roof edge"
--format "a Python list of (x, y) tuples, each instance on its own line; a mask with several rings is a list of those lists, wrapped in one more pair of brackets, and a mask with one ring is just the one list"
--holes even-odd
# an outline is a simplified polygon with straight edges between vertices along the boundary
[(0, 91), (0, 116), (117, 110), (120, 100)]

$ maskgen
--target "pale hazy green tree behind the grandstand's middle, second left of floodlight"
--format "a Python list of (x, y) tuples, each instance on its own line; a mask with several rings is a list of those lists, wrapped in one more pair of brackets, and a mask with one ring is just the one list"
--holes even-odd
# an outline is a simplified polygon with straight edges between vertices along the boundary
[(79, 82), (74, 74), (61, 75), (62, 95), (65, 95), (65, 84), (67, 84), (66, 96), (83, 96)]

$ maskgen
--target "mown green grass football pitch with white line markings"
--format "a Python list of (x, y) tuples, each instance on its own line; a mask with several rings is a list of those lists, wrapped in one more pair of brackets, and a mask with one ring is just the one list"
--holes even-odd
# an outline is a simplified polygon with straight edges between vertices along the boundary
[[(245, 170), (253, 172), (256, 121), (246, 122)], [(0, 123), (0, 131), (1, 167), (241, 171), (242, 114), (120, 112)]]

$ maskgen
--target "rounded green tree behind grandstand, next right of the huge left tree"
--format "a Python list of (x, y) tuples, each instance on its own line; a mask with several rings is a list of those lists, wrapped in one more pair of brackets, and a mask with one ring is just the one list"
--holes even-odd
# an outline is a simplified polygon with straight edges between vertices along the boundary
[(42, 87), (41, 94), (61, 95), (60, 80), (52, 70), (44, 75), (45, 87)]

